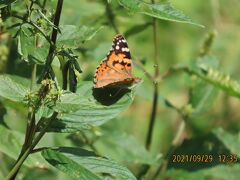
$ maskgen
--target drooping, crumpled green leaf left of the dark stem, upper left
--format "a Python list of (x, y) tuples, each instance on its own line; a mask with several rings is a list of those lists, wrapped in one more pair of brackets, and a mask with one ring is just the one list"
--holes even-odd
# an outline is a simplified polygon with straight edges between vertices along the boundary
[(28, 27), (22, 27), (19, 30), (17, 40), (18, 40), (18, 53), (24, 61), (44, 64), (46, 61), (48, 47), (47, 43), (41, 42), (41, 44), (36, 47), (36, 39), (41, 39), (41, 36), (34, 34), (33, 30)]

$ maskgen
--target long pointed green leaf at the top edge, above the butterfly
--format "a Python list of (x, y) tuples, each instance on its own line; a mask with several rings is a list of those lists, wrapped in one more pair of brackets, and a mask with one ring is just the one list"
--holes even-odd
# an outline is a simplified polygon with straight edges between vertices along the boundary
[(203, 25), (193, 22), (188, 16), (175, 9), (170, 3), (150, 4), (140, 0), (119, 0), (119, 3), (132, 13), (141, 13), (162, 20), (204, 27)]

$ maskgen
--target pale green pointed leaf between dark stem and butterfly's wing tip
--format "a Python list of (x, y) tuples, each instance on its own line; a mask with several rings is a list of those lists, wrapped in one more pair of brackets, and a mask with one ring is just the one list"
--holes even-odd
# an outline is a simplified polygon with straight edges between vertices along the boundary
[(90, 28), (87, 26), (64, 25), (57, 39), (58, 47), (77, 48), (83, 42), (91, 40), (103, 27)]

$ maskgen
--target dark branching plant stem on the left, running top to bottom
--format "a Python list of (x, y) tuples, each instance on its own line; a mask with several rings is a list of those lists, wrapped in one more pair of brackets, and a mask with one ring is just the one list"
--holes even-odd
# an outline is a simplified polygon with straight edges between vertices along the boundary
[[(59, 26), (59, 21), (60, 21), (60, 16), (61, 16), (61, 11), (62, 11), (62, 5), (63, 5), (63, 0), (58, 0), (56, 13), (55, 13), (55, 19), (54, 19), (55, 27)], [(46, 61), (46, 64), (45, 64), (45, 69), (47, 69), (47, 72), (49, 72), (49, 70), (51, 70), (51, 63), (52, 63), (53, 58), (54, 58), (55, 44), (56, 44), (56, 40), (57, 40), (57, 29), (53, 28), (51, 39), (48, 39), (48, 37), (44, 34), (44, 32), (41, 31), (41, 29), (38, 28), (38, 26), (35, 25), (33, 22), (28, 22), (28, 21), (25, 20), (25, 18), (23, 18), (21, 16), (18, 16), (18, 15), (13, 15), (13, 17), (21, 19), (25, 23), (31, 24), (32, 26), (37, 28), (39, 30), (39, 32), (41, 32), (47, 40), (49, 40), (50, 48), (49, 48), (47, 61)], [(53, 71), (51, 71), (51, 73), (54, 75)], [(31, 88), (33, 87), (33, 83), (35, 82), (35, 79), (36, 79), (36, 67), (33, 68), (33, 72), (32, 72)], [(39, 107), (40, 103), (41, 103), (41, 97), (39, 97), (39, 101), (38, 101), (36, 107)], [(36, 113), (36, 111), (37, 111), (37, 109), (33, 109), (33, 108), (29, 109), (28, 123), (27, 123), (27, 128), (26, 128), (26, 135), (25, 135), (25, 142), (23, 144), (21, 153), (20, 153), (13, 169), (9, 172), (6, 179), (15, 179), (15, 177), (16, 177), (19, 169), (21, 168), (22, 164), (24, 163), (25, 159), (28, 157), (28, 155), (31, 153), (31, 151), (34, 149), (34, 147), (38, 144), (38, 142), (41, 140), (43, 135), (46, 133), (46, 130), (48, 129), (48, 127), (51, 125), (51, 122), (54, 119), (56, 119), (56, 117), (58, 115), (57, 112), (53, 113), (53, 115), (48, 119), (47, 124), (44, 126), (42, 131), (38, 134), (38, 136), (33, 141), (33, 138), (34, 138), (34, 135), (35, 135), (35, 129), (36, 129), (36, 126), (35, 126), (35, 113)]]

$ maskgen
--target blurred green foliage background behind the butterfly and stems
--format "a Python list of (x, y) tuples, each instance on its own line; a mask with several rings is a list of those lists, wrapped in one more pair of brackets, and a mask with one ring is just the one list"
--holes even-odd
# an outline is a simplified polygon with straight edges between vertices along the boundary
[[(184, 14), (191, 17), (195, 22), (204, 25), (205, 28), (159, 20), (160, 73), (165, 73), (174, 65), (189, 64), (196, 61), (206, 36), (214, 31), (216, 32), (216, 38), (210, 54), (219, 60), (219, 71), (224, 74), (230, 74), (233, 79), (238, 80), (240, 69), (240, 1), (172, 0), (171, 2), (174, 7), (184, 12)], [(50, 1), (50, 3), (50, 11), (53, 11), (55, 1)], [(114, 0), (111, 2), (111, 8), (115, 14), (116, 26), (121, 34), (124, 34), (136, 25), (142, 25), (152, 21), (152, 18), (148, 16), (127, 12)], [(92, 80), (95, 68), (109, 51), (112, 38), (116, 35), (116, 32), (111, 25), (109, 25), (108, 19), (106, 18), (103, 1), (65, 1), (61, 24), (86, 25), (90, 27), (100, 27), (104, 25), (104, 28), (100, 30), (91, 41), (81, 44), (76, 51), (79, 55), (79, 63), (83, 70), (81, 80)], [(152, 27), (148, 26), (142, 32), (127, 37), (133, 57), (141, 60), (146, 70), (150, 73), (154, 71), (152, 31)], [(11, 47), (11, 49), (9, 49), (9, 47)], [(54, 69), (60, 75), (58, 68), (59, 65), (56, 63)], [(29, 78), (31, 73), (30, 69), (31, 65), (19, 59), (16, 53), (16, 41), (12, 40), (8, 34), (0, 35), (0, 73), (17, 74)], [(193, 85), (192, 81), (194, 77), (184, 73), (176, 73), (161, 82), (153, 142), (151, 152), (148, 153), (143, 146), (145, 144), (150, 119), (153, 86), (137, 65), (134, 67), (134, 74), (144, 80), (137, 88), (134, 103), (117, 119), (111, 120), (105, 125), (91, 131), (86, 131), (85, 133), (90, 139), (94, 139), (94, 145), (101, 154), (127, 165), (134, 174), (138, 173), (140, 163), (149, 161), (145, 156), (154, 157), (152, 159), (155, 159), (154, 161), (157, 162), (154, 163), (145, 177), (145, 179), (149, 179), (161, 162), (161, 158), (159, 160), (156, 157), (168, 152), (177, 129), (183, 121), (182, 116), (175, 110), (167, 107), (163, 99), (168, 99), (178, 108), (186, 108), (189, 100), (189, 89)], [(240, 146), (240, 136), (237, 135), (240, 129), (239, 99), (230, 97), (220, 90), (216, 90), (213, 96), (209, 97), (209, 101), (211, 101), (211, 105), (206, 105), (206, 108), (201, 114), (194, 118), (188, 118), (181, 139), (182, 141), (184, 139), (193, 140), (194, 143), (191, 144), (190, 142), (189, 145), (184, 144), (186, 145), (186, 152), (188, 152), (187, 149), (189, 146), (191, 147), (192, 145), (201, 151), (201, 148), (204, 147), (202, 144), (208, 140), (211, 132), (219, 127), (230, 133), (228, 134), (229, 136), (233, 136), (234, 138), (236, 136), (236, 141), (232, 140), (230, 147)], [(203, 104), (203, 106), (205, 106), (205, 104)], [(26, 116), (27, 109), (25, 107), (0, 98), (0, 120), (2, 123), (16, 131), (24, 133)], [(195, 140), (199, 143), (196, 143)], [(201, 140), (203, 143), (201, 143)], [(216, 142), (216, 140), (212, 140), (211, 138), (209, 141)], [(41, 143), (44, 146), (83, 145), (81, 134), (50, 133), (44, 137)], [(215, 150), (217, 151), (218, 148)], [(202, 152), (204, 153), (204, 149), (202, 149)], [(130, 154), (132, 159), (131, 157), (127, 157), (126, 154)], [(1, 174), (6, 174), (14, 161), (0, 153), (0, 162)], [(182, 165), (179, 166), (184, 169)], [(193, 169), (195, 169), (195, 166), (198, 165), (192, 165), (192, 167), (194, 167)], [(232, 177), (232, 179), (235, 179), (240, 172), (240, 167), (235, 166), (230, 168), (221, 166), (221, 168), (215, 171), (208, 170), (207, 165), (203, 168), (197, 168), (198, 171), (185, 168), (183, 170), (184, 175), (176, 169), (179, 169), (179, 167), (169, 167), (168, 171), (158, 176), (157, 179), (164, 177), (166, 179), (167, 177), (170, 179), (180, 179), (180, 177), (188, 177), (190, 179), (227, 179)], [(216, 177), (211, 175), (213, 172), (217, 173)], [(222, 174), (220, 174), (220, 172)], [(234, 176), (232, 176), (233, 174)], [(40, 165), (36, 165), (30, 169), (25, 168), (25, 171), (22, 172), (19, 178), (33, 179), (33, 177), (37, 179), (51, 179), (53, 177), (59, 179), (69, 178), (62, 173), (58, 173), (53, 169), (47, 170)]]

